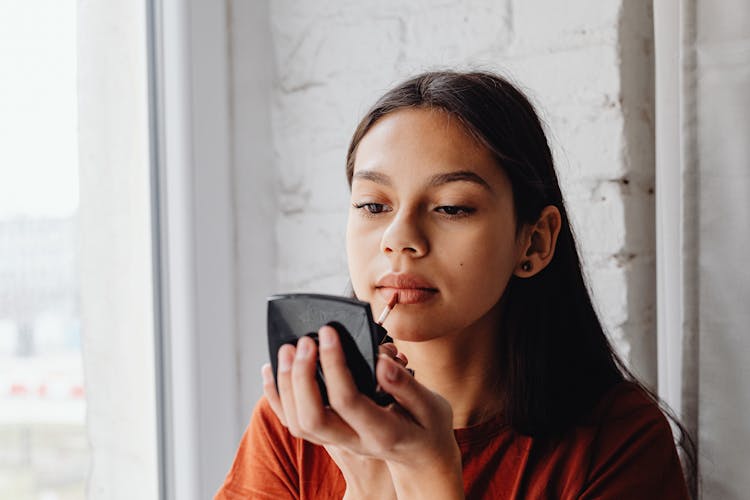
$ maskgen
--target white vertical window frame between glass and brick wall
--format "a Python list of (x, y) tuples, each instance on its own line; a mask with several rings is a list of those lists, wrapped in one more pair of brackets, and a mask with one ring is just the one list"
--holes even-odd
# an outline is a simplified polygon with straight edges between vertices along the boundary
[(147, 11), (160, 497), (210, 498), (241, 429), (227, 11)]

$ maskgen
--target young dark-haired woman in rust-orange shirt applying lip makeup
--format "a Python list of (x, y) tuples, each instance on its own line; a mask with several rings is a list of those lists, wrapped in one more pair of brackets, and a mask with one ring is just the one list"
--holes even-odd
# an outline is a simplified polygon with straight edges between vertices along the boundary
[(398, 294), (376, 369), (397, 404), (356, 391), (334, 329), (284, 346), (217, 498), (687, 497), (668, 421), (594, 312), (516, 88), (454, 72), (399, 85), (359, 124), (347, 176), (354, 293), (373, 311)]

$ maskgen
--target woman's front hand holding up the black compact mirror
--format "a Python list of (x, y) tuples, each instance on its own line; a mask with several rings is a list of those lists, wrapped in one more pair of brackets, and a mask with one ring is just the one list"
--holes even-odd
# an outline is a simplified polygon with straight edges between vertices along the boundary
[[(279, 391), (276, 393), (272, 380), (264, 385), (271, 407), (290, 432), (340, 449), (339, 457), (357, 455), (385, 462), (399, 496), (461, 498), (461, 455), (452, 430), (450, 404), (417, 382), (402, 363), (381, 354), (377, 381), (397, 404), (376, 405), (357, 391), (336, 331), (323, 327), (318, 335), (319, 351), (309, 338), (300, 339), (296, 348), (285, 345), (279, 349)], [(315, 381), (318, 352), (330, 407), (323, 407)], [(382, 469), (377, 462), (367, 462), (367, 466)], [(348, 486), (356, 474), (347, 474), (344, 468)], [(376, 476), (382, 480), (384, 473), (380, 470)], [(415, 485), (419, 485), (418, 492)], [(378, 489), (366, 491), (371, 494)]]

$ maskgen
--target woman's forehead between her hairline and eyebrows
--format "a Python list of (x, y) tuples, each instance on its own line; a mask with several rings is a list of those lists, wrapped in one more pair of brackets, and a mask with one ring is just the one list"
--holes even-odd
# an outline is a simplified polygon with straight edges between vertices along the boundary
[(384, 116), (362, 138), (354, 161), (355, 181), (363, 172), (402, 182), (456, 171), (475, 173), (493, 191), (509, 189), (489, 149), (469, 135), (458, 118), (434, 108), (408, 108)]

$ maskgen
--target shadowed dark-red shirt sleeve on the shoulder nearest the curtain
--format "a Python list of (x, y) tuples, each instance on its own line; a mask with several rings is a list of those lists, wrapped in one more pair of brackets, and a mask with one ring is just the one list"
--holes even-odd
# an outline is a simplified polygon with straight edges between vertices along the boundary
[(579, 498), (689, 499), (664, 414), (638, 388), (621, 397), (629, 400), (627, 411), (615, 410), (603, 419)]

